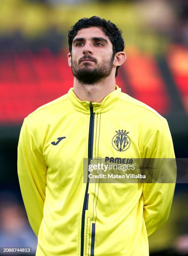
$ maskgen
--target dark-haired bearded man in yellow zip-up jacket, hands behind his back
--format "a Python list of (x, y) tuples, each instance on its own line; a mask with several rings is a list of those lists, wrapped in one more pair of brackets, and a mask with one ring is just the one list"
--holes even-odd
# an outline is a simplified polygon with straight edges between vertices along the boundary
[(25, 118), (18, 145), (36, 255), (149, 255), (174, 184), (84, 183), (83, 159), (174, 158), (167, 121), (115, 85), (126, 59), (115, 24), (83, 18), (68, 38), (73, 88)]

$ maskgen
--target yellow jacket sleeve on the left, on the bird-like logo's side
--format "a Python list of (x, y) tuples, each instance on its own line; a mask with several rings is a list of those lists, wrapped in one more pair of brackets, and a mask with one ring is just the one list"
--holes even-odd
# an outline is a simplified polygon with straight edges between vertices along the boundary
[(24, 120), (18, 143), (18, 178), (28, 220), (36, 236), (43, 219), (47, 171), (38, 144)]

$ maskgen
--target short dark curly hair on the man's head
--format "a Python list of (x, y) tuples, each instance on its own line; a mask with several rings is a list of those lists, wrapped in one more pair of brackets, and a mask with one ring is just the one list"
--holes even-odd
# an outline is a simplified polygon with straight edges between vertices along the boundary
[[(73, 39), (77, 35), (78, 31), (82, 28), (89, 27), (101, 27), (106, 36), (110, 39), (113, 44), (113, 57), (118, 51), (123, 51), (125, 43), (122, 37), (122, 31), (110, 20), (102, 19), (98, 16), (92, 16), (90, 18), (82, 18), (78, 20), (74, 26), (68, 31), (68, 45), (69, 51), (72, 51)], [(116, 67), (115, 77), (118, 75), (119, 66)]]

